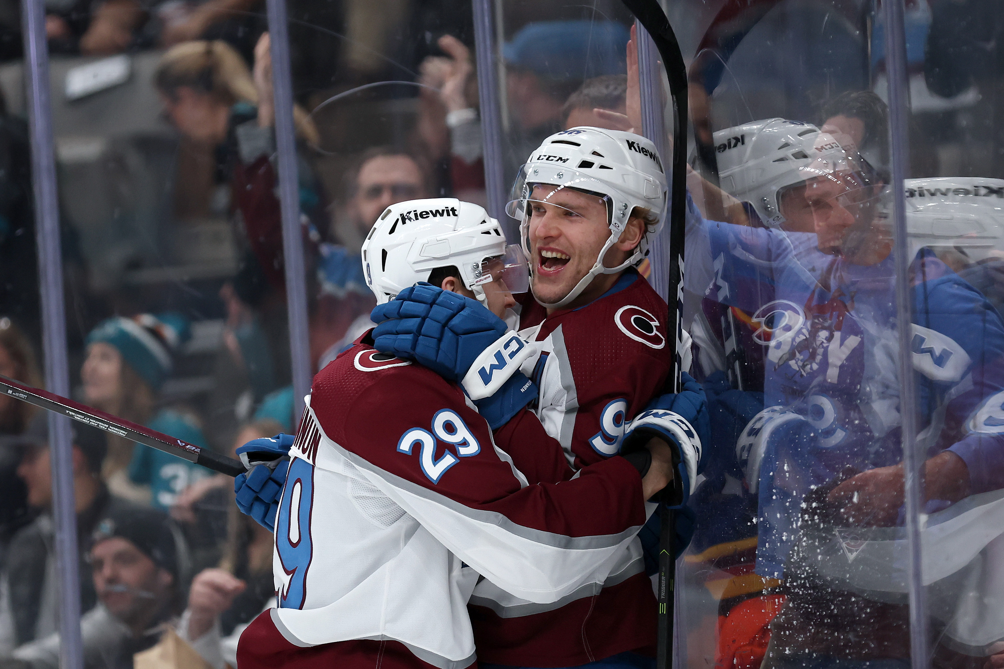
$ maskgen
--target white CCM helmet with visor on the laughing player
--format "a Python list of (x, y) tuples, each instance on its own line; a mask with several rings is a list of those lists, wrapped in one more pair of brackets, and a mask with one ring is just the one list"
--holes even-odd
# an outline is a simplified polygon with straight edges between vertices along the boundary
[[(610, 237), (599, 257), (564, 298), (546, 307), (560, 308), (574, 300), (597, 274), (616, 274), (649, 255), (649, 242), (659, 232), (666, 209), (666, 174), (656, 145), (634, 132), (581, 126), (544, 139), (519, 169), (506, 213), (520, 221), (523, 251), (530, 255), (529, 203), (533, 187), (547, 184), (597, 196), (606, 204)], [(550, 198), (551, 196), (548, 196)], [(540, 201), (547, 203), (547, 199)], [(617, 267), (603, 267), (603, 256), (623, 232), (635, 208), (648, 211), (651, 222), (635, 253)], [(541, 303), (543, 304), (543, 303)]]

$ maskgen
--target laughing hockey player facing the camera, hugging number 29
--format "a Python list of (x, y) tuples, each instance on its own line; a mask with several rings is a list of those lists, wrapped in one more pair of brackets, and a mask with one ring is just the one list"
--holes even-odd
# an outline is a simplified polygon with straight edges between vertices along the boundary
[[(520, 334), (535, 353), (521, 369), (542, 389), (534, 410), (548, 434), (574, 468), (587, 468), (617, 453), (624, 425), (672, 372), (666, 303), (634, 269), (661, 225), (663, 165), (640, 135), (576, 127), (531, 153), (512, 194), (507, 212), (521, 223), (532, 270), (533, 300), (521, 304)], [(439, 336), (437, 315), (421, 304), (399, 298), (373, 316), (389, 319), (374, 330), (378, 348), (448, 378), (513, 370), (453, 356), (455, 343)], [(552, 604), (500, 586), (488, 577), (471, 598), (482, 666), (653, 664), (657, 605), (641, 560), (601, 589)]]

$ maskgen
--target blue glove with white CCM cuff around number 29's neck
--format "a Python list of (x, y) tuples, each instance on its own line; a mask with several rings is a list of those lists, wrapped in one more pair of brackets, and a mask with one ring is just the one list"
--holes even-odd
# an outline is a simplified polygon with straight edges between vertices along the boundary
[(459, 381), (471, 399), (493, 395), (533, 354), (477, 300), (424, 282), (378, 305), (370, 318), (376, 350)]

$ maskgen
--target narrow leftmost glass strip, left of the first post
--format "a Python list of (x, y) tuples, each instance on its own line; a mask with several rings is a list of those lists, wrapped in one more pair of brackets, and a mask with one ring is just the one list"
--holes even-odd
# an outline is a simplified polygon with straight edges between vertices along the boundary
[[(20, 69), (18, 47), (0, 65)], [(10, 104), (24, 98), (20, 82), (4, 89)], [(42, 326), (35, 249), (28, 125), (7, 106), (0, 114), (0, 374), (40, 387)], [(0, 656), (53, 633), (56, 611), (52, 548), (52, 479), (45, 411), (0, 395)], [(43, 543), (48, 540), (48, 544)], [(84, 594), (84, 593), (82, 593)], [(93, 596), (90, 597), (91, 602)], [(15, 616), (14, 612), (22, 612)], [(54, 650), (58, 653), (58, 643)]]

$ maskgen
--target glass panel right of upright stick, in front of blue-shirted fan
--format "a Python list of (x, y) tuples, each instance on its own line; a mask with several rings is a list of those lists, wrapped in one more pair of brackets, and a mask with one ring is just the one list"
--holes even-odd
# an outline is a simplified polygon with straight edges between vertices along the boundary
[(880, 10), (714, 4), (676, 25), (698, 35), (684, 323), (714, 417), (681, 657), (909, 666)]

